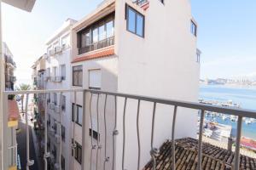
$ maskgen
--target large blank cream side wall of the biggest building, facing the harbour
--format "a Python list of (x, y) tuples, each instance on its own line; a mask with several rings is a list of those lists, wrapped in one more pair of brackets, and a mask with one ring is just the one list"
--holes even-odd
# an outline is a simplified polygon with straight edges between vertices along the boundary
[[(125, 3), (145, 16), (145, 37), (126, 31)], [(195, 62), (196, 37), (190, 33), (192, 19), (188, 0), (150, 1), (143, 11), (130, 0), (116, 2), (115, 51), (119, 56), (118, 92), (164, 99), (197, 101), (199, 65)], [(125, 168), (137, 169), (137, 101), (127, 103)], [(116, 169), (122, 158), (122, 111), (119, 101), (119, 136)], [(142, 102), (140, 136), (141, 167), (149, 161), (153, 104)], [(159, 147), (172, 135), (173, 107), (157, 105), (154, 147)], [(176, 137), (195, 137), (196, 111), (178, 108)], [(120, 150), (120, 151), (119, 151)]]

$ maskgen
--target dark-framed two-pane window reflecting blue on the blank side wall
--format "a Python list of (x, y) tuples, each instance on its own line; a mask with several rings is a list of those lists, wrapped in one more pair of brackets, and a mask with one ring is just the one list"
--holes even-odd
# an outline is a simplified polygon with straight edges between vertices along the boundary
[(144, 37), (145, 18), (134, 8), (126, 5), (126, 29), (139, 37)]

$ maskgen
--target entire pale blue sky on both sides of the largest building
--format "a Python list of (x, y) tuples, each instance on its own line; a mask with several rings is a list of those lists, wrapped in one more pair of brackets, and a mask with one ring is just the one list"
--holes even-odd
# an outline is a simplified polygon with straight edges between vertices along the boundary
[[(101, 1), (37, 0), (32, 13), (3, 4), (3, 41), (15, 55), (18, 83), (31, 81), (33, 61), (67, 18), (80, 20)], [(256, 1), (191, 0), (191, 6), (199, 25), (201, 78), (256, 72)]]

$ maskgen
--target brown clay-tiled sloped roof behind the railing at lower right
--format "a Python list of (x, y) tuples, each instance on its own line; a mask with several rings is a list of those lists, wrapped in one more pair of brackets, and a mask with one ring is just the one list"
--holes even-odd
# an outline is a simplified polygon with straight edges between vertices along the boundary
[[(197, 169), (197, 139), (177, 139), (176, 140), (176, 169)], [(212, 144), (202, 144), (202, 169), (206, 170), (230, 170), (235, 161), (235, 153), (224, 150)], [(172, 162), (172, 142), (166, 141), (160, 147), (160, 154), (156, 157), (156, 169), (171, 169)], [(256, 159), (241, 155), (240, 169), (256, 169)], [(143, 170), (153, 170), (153, 161), (149, 161)]]

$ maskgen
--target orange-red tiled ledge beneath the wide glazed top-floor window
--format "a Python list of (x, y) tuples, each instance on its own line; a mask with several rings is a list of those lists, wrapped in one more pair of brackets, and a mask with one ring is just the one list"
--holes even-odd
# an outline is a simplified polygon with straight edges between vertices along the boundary
[(76, 59), (73, 59), (72, 63), (89, 60), (89, 59), (98, 59), (102, 57), (107, 57), (114, 54), (113, 46), (109, 48), (103, 48), (102, 50), (97, 50), (89, 54), (84, 54), (83, 56), (78, 56)]

